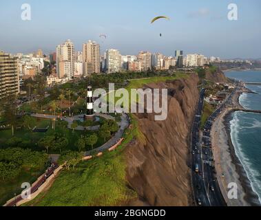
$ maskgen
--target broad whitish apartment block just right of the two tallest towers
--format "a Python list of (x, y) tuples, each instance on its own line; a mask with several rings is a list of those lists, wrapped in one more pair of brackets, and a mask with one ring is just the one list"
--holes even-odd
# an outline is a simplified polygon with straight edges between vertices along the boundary
[(106, 70), (108, 74), (121, 72), (121, 54), (118, 50), (106, 51)]

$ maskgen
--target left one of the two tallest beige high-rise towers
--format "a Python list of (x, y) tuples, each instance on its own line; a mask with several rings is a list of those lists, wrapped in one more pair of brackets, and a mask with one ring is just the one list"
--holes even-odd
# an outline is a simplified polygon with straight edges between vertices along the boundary
[(63, 78), (65, 75), (70, 80), (74, 78), (75, 51), (74, 44), (70, 40), (56, 47), (56, 71), (59, 78)]

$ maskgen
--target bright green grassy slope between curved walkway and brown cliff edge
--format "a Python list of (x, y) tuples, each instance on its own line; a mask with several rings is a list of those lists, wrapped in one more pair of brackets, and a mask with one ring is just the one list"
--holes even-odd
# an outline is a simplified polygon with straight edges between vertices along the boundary
[(121, 206), (136, 199), (125, 179), (123, 154), (135, 137), (141, 135), (138, 122), (132, 118), (132, 129), (125, 131), (125, 140), (116, 151), (81, 162), (74, 170), (63, 170), (47, 192), (25, 206)]

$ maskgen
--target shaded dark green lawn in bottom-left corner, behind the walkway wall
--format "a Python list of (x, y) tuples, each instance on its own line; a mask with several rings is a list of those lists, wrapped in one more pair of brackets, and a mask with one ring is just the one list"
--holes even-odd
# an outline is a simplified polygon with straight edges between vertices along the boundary
[(21, 184), (24, 182), (34, 183), (45, 170), (45, 167), (40, 170), (21, 170), (18, 177), (12, 181), (0, 181), (0, 206), (3, 206), (6, 201), (14, 197), (14, 193), (19, 195), (22, 192)]

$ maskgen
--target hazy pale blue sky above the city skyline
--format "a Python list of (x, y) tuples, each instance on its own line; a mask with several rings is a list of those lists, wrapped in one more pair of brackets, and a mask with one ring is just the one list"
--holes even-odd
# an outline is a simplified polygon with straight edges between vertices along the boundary
[[(23, 3), (31, 5), (31, 21), (21, 19)], [(229, 3), (238, 5), (238, 21), (227, 18)], [(150, 23), (161, 15), (170, 21)], [(183, 50), (261, 58), (260, 21), (260, 0), (10, 0), (1, 2), (0, 50), (42, 49), (47, 54), (71, 39), (79, 51), (92, 40), (102, 52), (113, 48), (123, 55), (149, 51), (174, 56), (175, 50)]]

